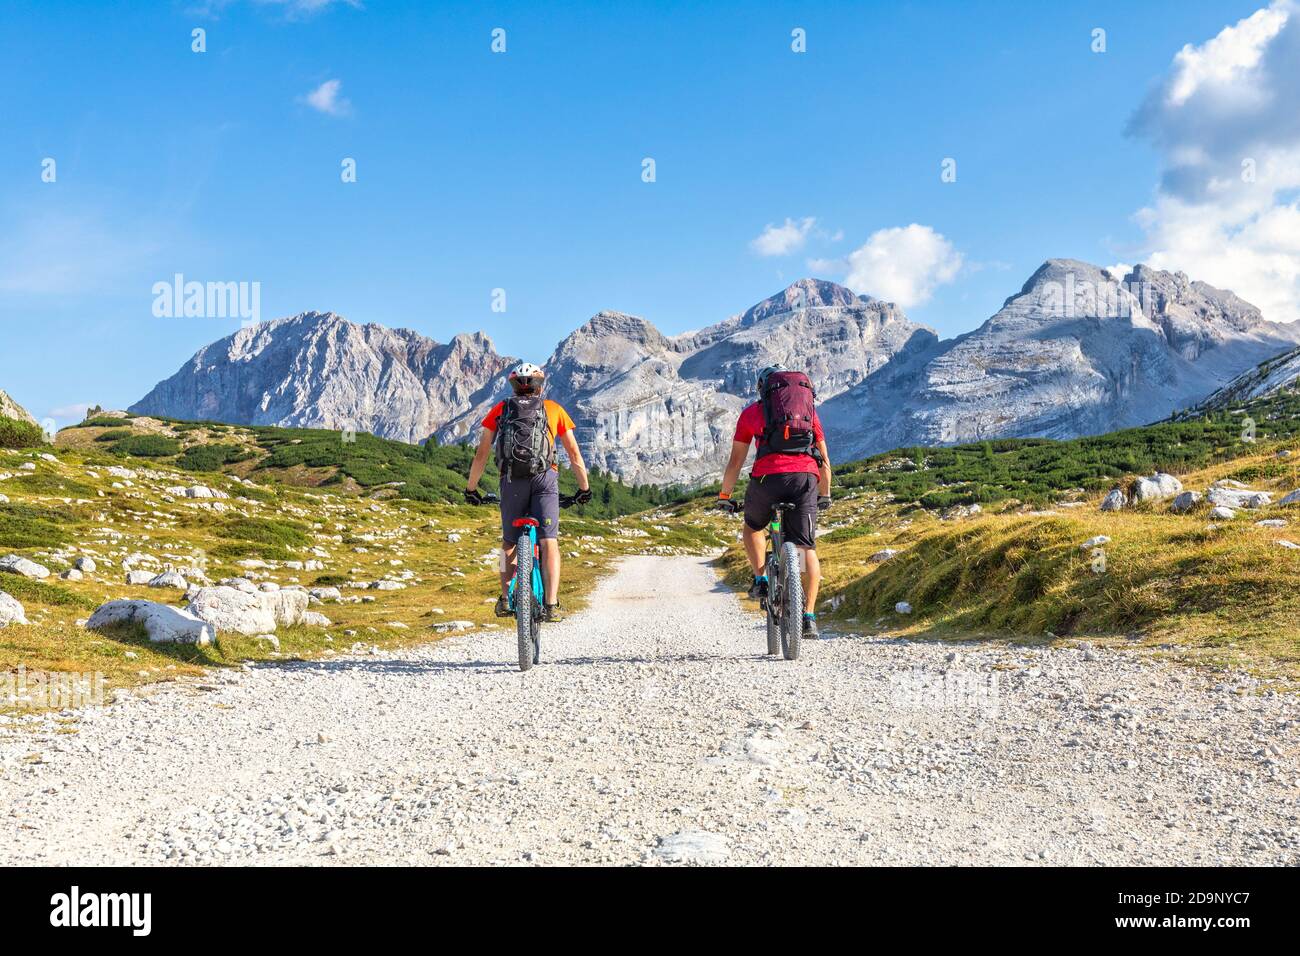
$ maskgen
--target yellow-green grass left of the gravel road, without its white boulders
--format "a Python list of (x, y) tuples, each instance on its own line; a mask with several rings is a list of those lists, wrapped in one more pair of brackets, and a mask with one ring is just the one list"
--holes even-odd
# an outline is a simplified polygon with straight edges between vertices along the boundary
[[(83, 436), (87, 441), (62, 444), (53, 463), (38, 457), (44, 449), (0, 451), (0, 475), (8, 476), (0, 480), (0, 492), (9, 498), (0, 503), (0, 554), (22, 554), (53, 572), (40, 581), (0, 574), (0, 591), (17, 597), (32, 622), (0, 628), (0, 670), (21, 665), (29, 671), (101, 671), (110, 687), (122, 687), (273, 656), (265, 644), (237, 636), (192, 648), (150, 644), (130, 630), (104, 635), (78, 627), (78, 619), (110, 598), (182, 604), (179, 591), (124, 583), (121, 559), (135, 551), (177, 567), (202, 566), (213, 581), (240, 574), (239, 562), (247, 559), (272, 564), (254, 572), (266, 580), (307, 587), (369, 581), (403, 570), (415, 574), (404, 591), (359, 591), (343, 584), (344, 594), (373, 596), (374, 602), (313, 606), (334, 626), (282, 628), (278, 636), (285, 657), (343, 652), (354, 641), (425, 641), (436, 637), (430, 626), (442, 620), (497, 623), (488, 604), (497, 588), (499, 531), (493, 509), (374, 498), (350, 493), (343, 483), (248, 488), (230, 475), (185, 472), (172, 462), (124, 460), (94, 441), (96, 429), (75, 431), (91, 434)], [(29, 463), (35, 471), (21, 470)], [(136, 470), (138, 476), (113, 477), (105, 471), (109, 464)], [(256, 480), (270, 472), (252, 473)], [(228, 510), (218, 512), (205, 507), (204, 499), (173, 498), (164, 492), (195, 483), (228, 492), (230, 498), (221, 502)], [(585, 511), (573, 509), (562, 518), (569, 533), (563, 584), (568, 606), (578, 606), (595, 576), (620, 554), (720, 544), (705, 525), (685, 523), (662, 531), (667, 525), (654, 512), (610, 520)], [(645, 537), (620, 536), (620, 528), (644, 531)], [(462, 536), (459, 542), (447, 541), (452, 532)], [(597, 540), (580, 540), (582, 535)], [(312, 549), (321, 549), (325, 557)], [(493, 558), (485, 562), (489, 553)], [(82, 554), (95, 558), (96, 574), (82, 581), (56, 578)], [(324, 561), (322, 571), (283, 566), (285, 561), (313, 557)], [(348, 630), (355, 636), (346, 635)], [(127, 657), (129, 652), (134, 657)], [(0, 701), (0, 710), (4, 708)]]

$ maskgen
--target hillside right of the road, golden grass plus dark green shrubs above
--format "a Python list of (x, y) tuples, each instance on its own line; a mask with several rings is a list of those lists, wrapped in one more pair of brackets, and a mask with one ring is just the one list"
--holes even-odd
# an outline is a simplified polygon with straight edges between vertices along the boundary
[[(1294, 392), (1092, 438), (901, 449), (836, 471), (818, 550), (837, 627), (1088, 639), (1300, 680)], [(1156, 471), (1201, 497), (1100, 509), (1102, 493)], [(738, 548), (724, 566), (744, 580)]]

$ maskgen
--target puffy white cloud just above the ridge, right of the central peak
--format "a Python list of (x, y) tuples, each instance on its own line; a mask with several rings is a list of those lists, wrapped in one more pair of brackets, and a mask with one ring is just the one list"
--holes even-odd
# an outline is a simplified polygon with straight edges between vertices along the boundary
[(957, 278), (962, 254), (930, 226), (913, 222), (872, 233), (841, 261), (814, 259), (809, 265), (844, 272), (853, 291), (907, 308), (928, 302), (937, 286)]

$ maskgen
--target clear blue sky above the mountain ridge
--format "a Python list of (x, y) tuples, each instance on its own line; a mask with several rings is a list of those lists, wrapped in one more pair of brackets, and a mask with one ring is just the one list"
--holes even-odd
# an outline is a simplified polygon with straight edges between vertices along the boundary
[[(6, 0), (0, 388), (58, 424), (138, 399), (238, 328), (155, 317), (178, 272), (260, 282), (263, 319), (484, 329), (541, 360), (601, 308), (671, 334), (861, 278), (854, 250), (911, 224), (937, 258), (890, 287), (965, 332), (1046, 258), (1152, 250), (1135, 215), (1167, 160), (1126, 127), (1184, 44), (1261, 5)], [(802, 246), (760, 255), (786, 219)]]

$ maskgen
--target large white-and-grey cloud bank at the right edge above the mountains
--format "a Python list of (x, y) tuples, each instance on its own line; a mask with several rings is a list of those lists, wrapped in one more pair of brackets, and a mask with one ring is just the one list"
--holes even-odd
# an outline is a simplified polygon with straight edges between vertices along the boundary
[(1144, 259), (1300, 319), (1300, 12), (1275, 0), (1188, 44), (1130, 131), (1164, 155)]

